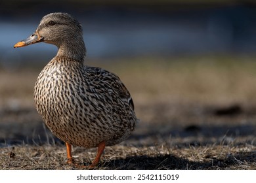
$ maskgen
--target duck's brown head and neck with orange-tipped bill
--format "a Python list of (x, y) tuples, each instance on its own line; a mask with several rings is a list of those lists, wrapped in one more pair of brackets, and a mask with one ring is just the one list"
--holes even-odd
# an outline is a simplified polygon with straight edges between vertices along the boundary
[[(75, 59), (83, 59), (86, 52), (81, 24), (67, 13), (47, 14), (42, 18), (35, 33), (27, 39), (17, 42), (14, 48), (37, 42), (54, 44), (59, 48), (58, 55), (68, 55)], [(77, 50), (79, 50), (78, 53)]]

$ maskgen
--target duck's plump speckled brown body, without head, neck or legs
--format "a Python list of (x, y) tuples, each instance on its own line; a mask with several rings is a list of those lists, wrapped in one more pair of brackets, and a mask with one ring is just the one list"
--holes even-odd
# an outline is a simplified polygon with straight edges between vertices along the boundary
[(116, 75), (68, 58), (53, 58), (45, 66), (34, 98), (47, 127), (76, 146), (117, 144), (137, 121), (131, 95)]

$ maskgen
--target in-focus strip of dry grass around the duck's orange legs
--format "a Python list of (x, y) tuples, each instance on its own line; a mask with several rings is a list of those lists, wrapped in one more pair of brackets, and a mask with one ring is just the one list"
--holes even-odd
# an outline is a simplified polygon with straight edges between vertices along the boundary
[[(95, 149), (93, 149), (95, 150)], [(74, 148), (75, 160), (89, 165), (93, 150)], [(112, 146), (106, 148), (95, 169), (256, 169), (256, 148), (244, 144), (207, 146)], [(1, 169), (79, 169), (66, 164), (60, 146), (12, 146), (2, 148)]]

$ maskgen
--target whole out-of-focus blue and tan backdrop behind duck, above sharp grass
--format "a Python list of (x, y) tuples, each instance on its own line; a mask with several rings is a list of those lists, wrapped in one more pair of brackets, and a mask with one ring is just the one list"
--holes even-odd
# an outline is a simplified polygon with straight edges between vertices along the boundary
[(2, 0), (1, 143), (46, 138), (33, 85), (56, 47), (13, 46), (50, 12), (75, 16), (83, 25), (86, 64), (116, 73), (129, 88), (142, 121), (134, 136), (140, 143), (191, 137), (191, 131), (203, 142), (254, 138), (256, 1)]

